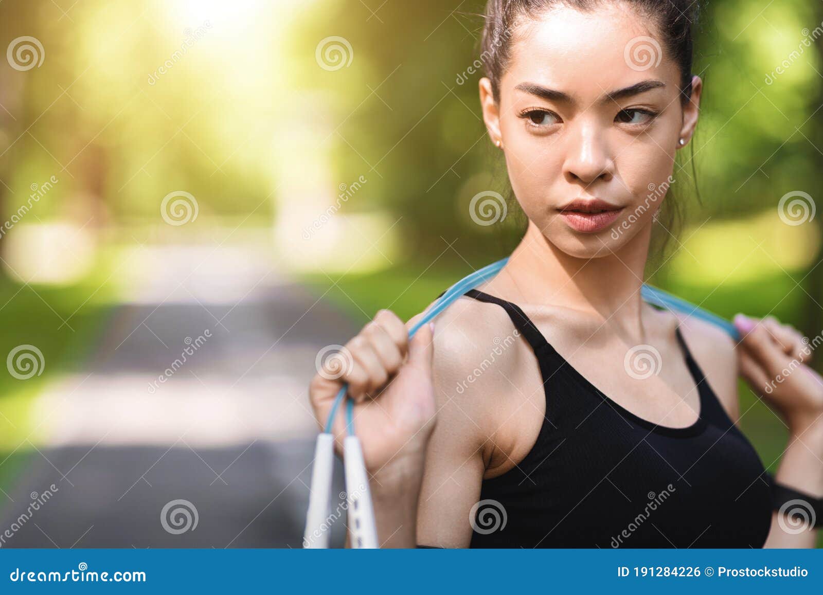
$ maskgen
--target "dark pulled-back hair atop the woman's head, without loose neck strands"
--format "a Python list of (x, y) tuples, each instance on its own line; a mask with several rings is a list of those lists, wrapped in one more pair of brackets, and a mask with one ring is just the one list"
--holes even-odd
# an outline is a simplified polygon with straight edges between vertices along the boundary
[(692, 26), (700, 12), (698, 0), (488, 0), (481, 50), (495, 100), (500, 102), (500, 78), (509, 63), (511, 37), (523, 16), (535, 18), (555, 6), (591, 12), (616, 2), (635, 7), (657, 23), (665, 49), (681, 72), (681, 101), (688, 101), (691, 95)]

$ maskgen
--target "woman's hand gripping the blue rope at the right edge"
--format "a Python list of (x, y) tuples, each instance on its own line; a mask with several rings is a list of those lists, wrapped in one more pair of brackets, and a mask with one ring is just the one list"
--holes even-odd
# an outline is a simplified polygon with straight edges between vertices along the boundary
[(742, 337), (740, 373), (751, 388), (793, 433), (823, 425), (823, 378), (807, 365), (813, 351), (807, 337), (774, 316), (758, 320), (737, 314), (734, 326)]

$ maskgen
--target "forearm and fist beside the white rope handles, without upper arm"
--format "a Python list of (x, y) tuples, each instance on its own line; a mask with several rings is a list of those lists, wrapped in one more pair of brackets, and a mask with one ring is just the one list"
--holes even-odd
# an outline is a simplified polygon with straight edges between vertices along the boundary
[[(436, 423), (432, 330), (425, 325), (408, 338), (418, 318), (404, 324), (381, 310), (340, 353), (323, 362), (309, 385), (314, 416), (323, 427), (338, 391), (348, 383), (380, 546), (414, 546), (415, 502)], [(338, 410), (331, 429), (338, 454), (347, 434), (344, 409)]]

